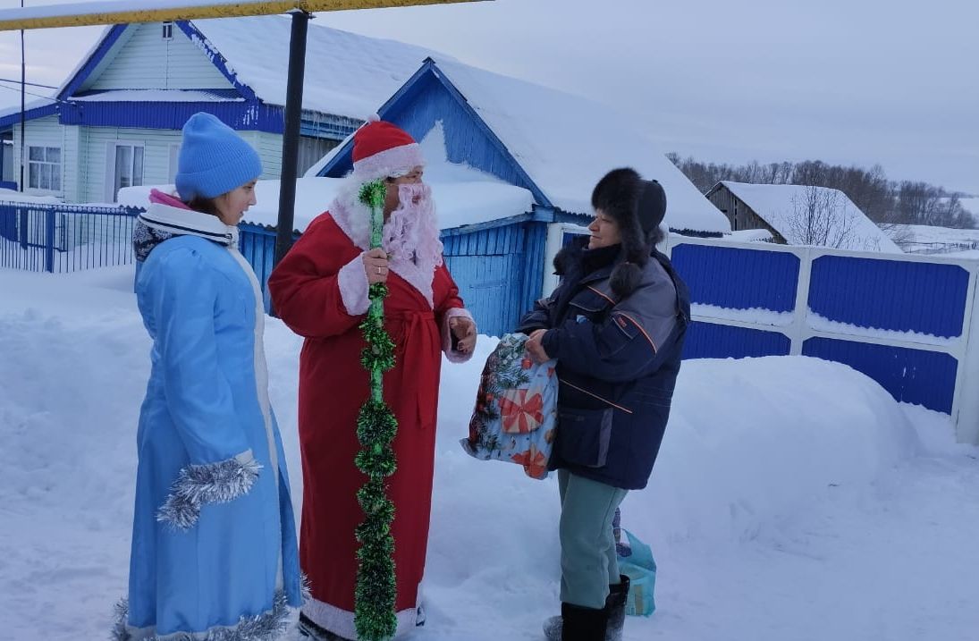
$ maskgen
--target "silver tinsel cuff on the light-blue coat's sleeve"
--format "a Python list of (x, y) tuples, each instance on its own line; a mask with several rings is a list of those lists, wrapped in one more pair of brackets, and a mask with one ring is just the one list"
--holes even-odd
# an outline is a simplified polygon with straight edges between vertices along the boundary
[(187, 530), (197, 523), (205, 503), (227, 503), (247, 494), (258, 477), (261, 466), (255, 459), (242, 462), (237, 458), (208, 465), (190, 465), (170, 487), (157, 521), (175, 529)]

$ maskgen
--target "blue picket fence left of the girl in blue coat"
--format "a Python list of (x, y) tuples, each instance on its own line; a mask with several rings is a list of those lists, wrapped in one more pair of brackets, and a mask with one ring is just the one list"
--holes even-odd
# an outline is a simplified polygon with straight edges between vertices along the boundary
[(70, 272), (133, 261), (138, 208), (0, 202), (0, 267)]

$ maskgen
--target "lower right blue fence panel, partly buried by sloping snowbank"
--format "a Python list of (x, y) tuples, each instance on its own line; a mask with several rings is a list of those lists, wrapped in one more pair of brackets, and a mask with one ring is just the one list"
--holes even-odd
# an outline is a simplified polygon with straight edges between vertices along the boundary
[(825, 338), (809, 339), (802, 353), (846, 363), (898, 400), (952, 413), (958, 361), (947, 353)]

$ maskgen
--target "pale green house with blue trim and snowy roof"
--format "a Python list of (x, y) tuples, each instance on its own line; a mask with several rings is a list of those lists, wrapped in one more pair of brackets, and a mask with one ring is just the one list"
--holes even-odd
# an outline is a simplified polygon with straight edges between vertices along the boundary
[[(228, 123), (279, 176), (291, 21), (224, 18), (109, 27), (53, 99), (26, 109), (24, 192), (115, 202), (120, 188), (176, 172), (195, 112)], [(310, 23), (300, 142), (303, 170), (394, 93), (432, 52)], [(18, 189), (20, 109), (0, 112), (0, 187)]]

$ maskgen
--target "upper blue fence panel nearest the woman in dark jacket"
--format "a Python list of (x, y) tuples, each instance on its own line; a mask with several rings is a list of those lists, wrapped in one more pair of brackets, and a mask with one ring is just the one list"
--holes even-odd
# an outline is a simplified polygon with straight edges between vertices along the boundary
[(677, 245), (671, 259), (692, 302), (733, 309), (795, 308), (800, 260), (794, 253)]

